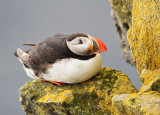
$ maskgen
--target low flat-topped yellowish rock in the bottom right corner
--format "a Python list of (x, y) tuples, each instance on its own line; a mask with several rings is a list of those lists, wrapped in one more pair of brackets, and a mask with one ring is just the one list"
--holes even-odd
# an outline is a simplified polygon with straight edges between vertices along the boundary
[(159, 115), (160, 93), (120, 94), (112, 98), (116, 115)]

